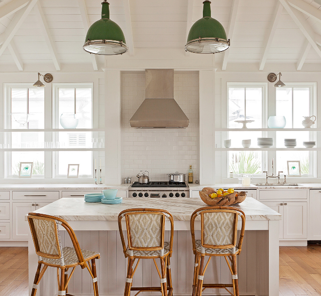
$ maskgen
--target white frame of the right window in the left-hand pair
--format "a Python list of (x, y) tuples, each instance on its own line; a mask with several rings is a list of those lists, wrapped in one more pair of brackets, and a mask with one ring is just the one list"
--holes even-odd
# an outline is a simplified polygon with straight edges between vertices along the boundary
[[(59, 100), (58, 100), (58, 89), (59, 88), (91, 88), (91, 129), (94, 128), (94, 83), (53, 83), (53, 128), (59, 129)], [(62, 131), (64, 129), (61, 129)], [(88, 129), (90, 131), (90, 129)], [(77, 132), (77, 129), (75, 129), (75, 132)], [(58, 133), (54, 133), (54, 141), (58, 137)], [(61, 179), (61, 178), (67, 178), (67, 169), (66, 174), (59, 174), (59, 168), (58, 168), (58, 155), (59, 151), (54, 151), (52, 153), (52, 167), (53, 167), (53, 179)], [(91, 163), (94, 162), (94, 157), (98, 158), (98, 152), (91, 151)], [(94, 169), (92, 167), (91, 174), (90, 175), (79, 175), (79, 178), (93, 178), (94, 177)]]

